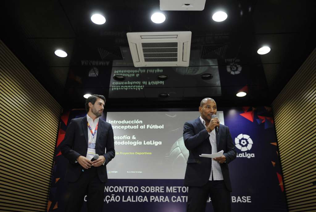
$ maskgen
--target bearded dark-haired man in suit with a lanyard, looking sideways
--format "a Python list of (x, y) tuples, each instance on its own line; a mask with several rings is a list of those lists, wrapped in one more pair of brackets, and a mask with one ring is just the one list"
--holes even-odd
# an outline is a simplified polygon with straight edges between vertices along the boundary
[[(107, 182), (106, 164), (115, 156), (111, 124), (99, 119), (105, 97), (92, 95), (86, 100), (88, 112), (72, 119), (62, 141), (61, 152), (69, 160), (65, 180), (68, 181), (65, 211), (80, 211), (87, 195), (88, 211), (101, 212), (104, 186)], [(91, 159), (95, 154), (99, 159)]]

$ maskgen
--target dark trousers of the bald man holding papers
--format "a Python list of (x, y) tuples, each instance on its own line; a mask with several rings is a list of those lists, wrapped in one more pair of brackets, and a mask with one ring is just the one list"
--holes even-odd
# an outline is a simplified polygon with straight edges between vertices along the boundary
[(202, 187), (189, 187), (186, 211), (205, 212), (209, 196), (214, 212), (230, 212), (230, 192), (227, 190), (224, 180), (209, 180)]

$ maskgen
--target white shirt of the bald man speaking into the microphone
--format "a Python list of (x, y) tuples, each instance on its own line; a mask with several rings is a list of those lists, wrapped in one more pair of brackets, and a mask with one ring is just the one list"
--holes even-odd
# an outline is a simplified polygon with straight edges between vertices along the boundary
[[(203, 125), (206, 126), (205, 125), (205, 121), (204, 121), (204, 119), (202, 119), (201, 116), (200, 116), (200, 120), (203, 123)], [(212, 130), (209, 133), (209, 135), (210, 135), (210, 137), (209, 137), (210, 144), (211, 144), (211, 147), (212, 147), (212, 154), (217, 153), (215, 130)], [(210, 179), (209, 180), (212, 180), (212, 174), (213, 174), (213, 179), (214, 180), (223, 180), (224, 179), (220, 164), (217, 161), (213, 160), (213, 159), (212, 159), (211, 174), (210, 174)]]

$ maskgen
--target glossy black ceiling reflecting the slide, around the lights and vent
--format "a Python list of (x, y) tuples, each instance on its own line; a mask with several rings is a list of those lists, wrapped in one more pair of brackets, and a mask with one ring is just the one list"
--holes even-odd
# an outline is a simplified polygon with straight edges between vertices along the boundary
[[(163, 11), (166, 21), (155, 24), (159, 0), (6, 1), (1, 39), (68, 108), (82, 107), (85, 93), (105, 95), (110, 109), (194, 107), (206, 96), (219, 105), (269, 105), (316, 47), (314, 8), (308, 0), (209, 0), (203, 11)], [(227, 20), (211, 19), (217, 9)], [(94, 12), (106, 23), (92, 23)], [(178, 30), (192, 32), (189, 67), (134, 67), (127, 32)], [(270, 53), (258, 55), (265, 44)], [(57, 48), (68, 56), (57, 57)], [(247, 96), (236, 97), (240, 90)]]

